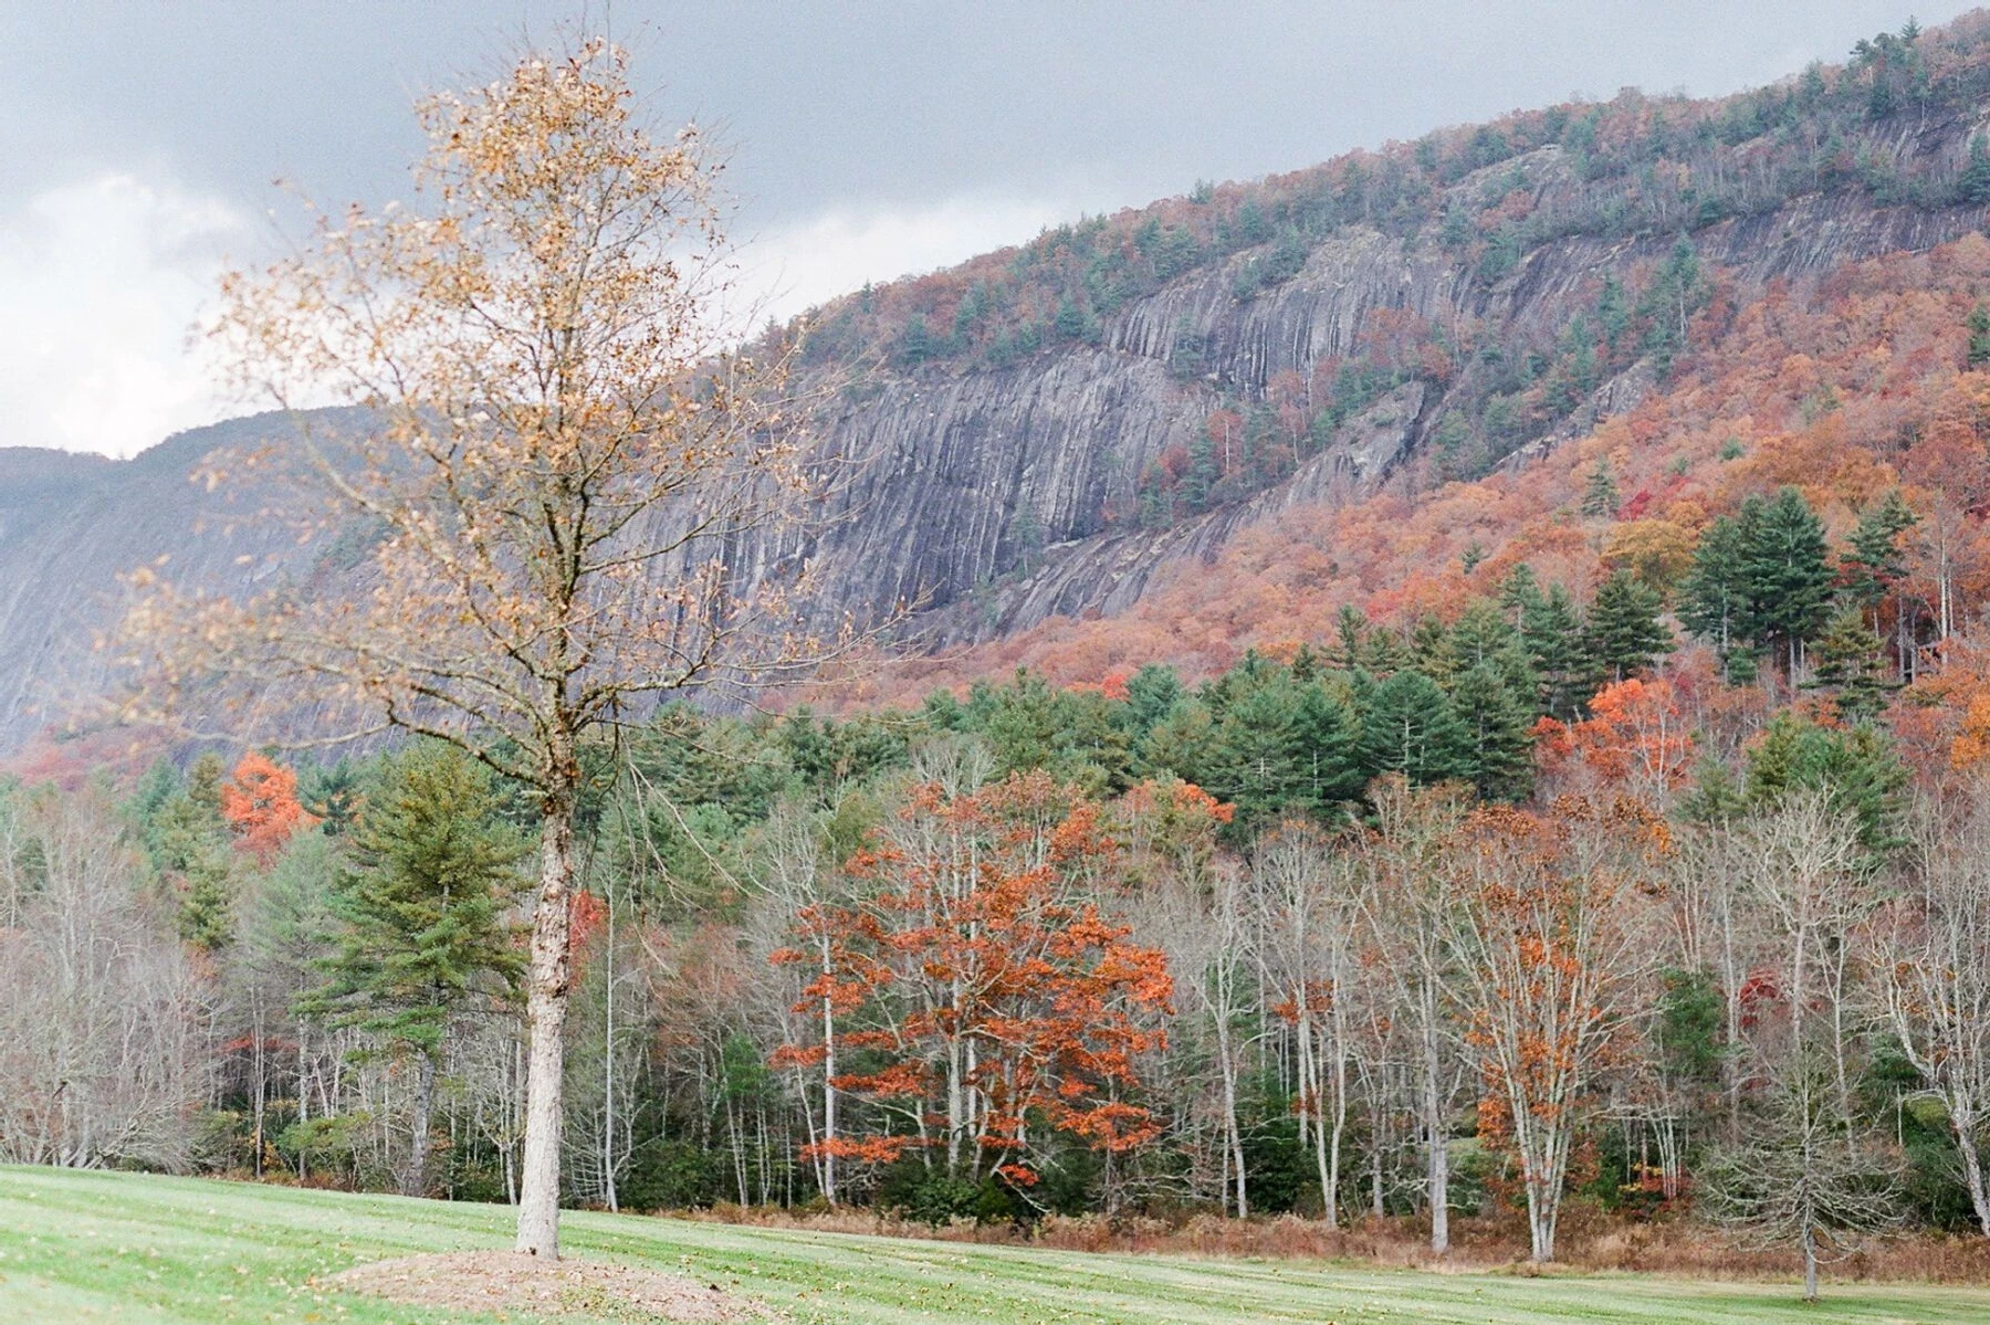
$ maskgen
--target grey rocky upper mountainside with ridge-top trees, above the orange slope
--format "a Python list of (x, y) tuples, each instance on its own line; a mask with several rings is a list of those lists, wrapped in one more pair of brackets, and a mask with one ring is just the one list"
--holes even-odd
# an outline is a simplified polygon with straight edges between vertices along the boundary
[[(746, 555), (814, 555), (822, 621), (921, 603), (945, 653), (1122, 615), (1224, 547), (1272, 567), (1292, 519), (1636, 416), (1733, 308), (1976, 231), (1986, 117), (1976, 14), (1753, 94), (1510, 115), (854, 294), (810, 332), (824, 370), (862, 368), (818, 422), (854, 479), (808, 545)], [(0, 748), (100, 688), (119, 573), (169, 557), (221, 591), (318, 565), (185, 481), (273, 426), (117, 466), (0, 454), (38, 475), (0, 497)]]

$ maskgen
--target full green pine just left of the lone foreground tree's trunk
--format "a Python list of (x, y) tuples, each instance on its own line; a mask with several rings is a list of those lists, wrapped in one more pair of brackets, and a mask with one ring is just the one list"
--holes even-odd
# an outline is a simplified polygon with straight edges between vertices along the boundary
[(505, 907), (523, 885), (527, 846), (498, 810), (490, 774), (454, 746), (424, 742), (390, 756), (350, 834), (358, 867), (332, 897), (338, 951), (310, 1007), (378, 1037), (398, 1058), (414, 1056), (408, 1194), (426, 1184), (452, 1017), (478, 999), (503, 999), (523, 973)]

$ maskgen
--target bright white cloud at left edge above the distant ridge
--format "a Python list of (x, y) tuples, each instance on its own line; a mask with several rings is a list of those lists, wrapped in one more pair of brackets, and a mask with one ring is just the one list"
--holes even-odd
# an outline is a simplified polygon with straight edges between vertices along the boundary
[(187, 332), (245, 225), (127, 173), (0, 215), (0, 446), (129, 456), (229, 414)]

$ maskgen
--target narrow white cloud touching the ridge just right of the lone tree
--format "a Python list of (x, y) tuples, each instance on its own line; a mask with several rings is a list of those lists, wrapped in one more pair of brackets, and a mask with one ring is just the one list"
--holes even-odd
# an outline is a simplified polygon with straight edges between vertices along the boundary
[(740, 245), (738, 292), (758, 320), (788, 318), (838, 294), (951, 267), (1019, 245), (1077, 209), (1025, 199), (949, 199), (931, 207), (836, 209)]

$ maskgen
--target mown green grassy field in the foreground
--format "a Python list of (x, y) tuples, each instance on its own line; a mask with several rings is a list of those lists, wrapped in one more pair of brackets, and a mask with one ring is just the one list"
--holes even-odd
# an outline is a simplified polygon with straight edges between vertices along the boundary
[[(599, 1214), (567, 1216), (563, 1228), (575, 1255), (683, 1267), (796, 1325), (1990, 1321), (1990, 1291), (1934, 1287), (1851, 1285), (1803, 1307), (1785, 1285), (1079, 1255)], [(324, 1293), (306, 1279), (360, 1261), (507, 1243), (507, 1212), (492, 1206), (0, 1168), (0, 1321), (496, 1321)]]

